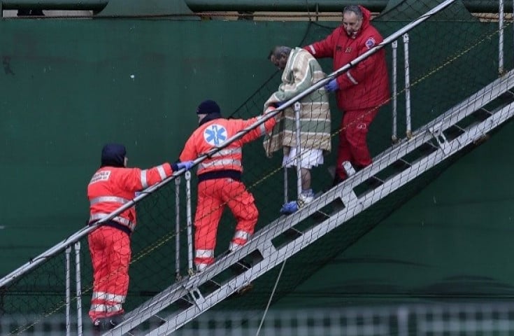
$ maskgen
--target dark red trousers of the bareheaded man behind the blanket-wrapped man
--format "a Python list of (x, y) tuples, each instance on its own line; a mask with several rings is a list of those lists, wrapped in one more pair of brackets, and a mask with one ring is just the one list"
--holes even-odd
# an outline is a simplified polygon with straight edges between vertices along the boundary
[(350, 161), (356, 169), (371, 165), (366, 136), (369, 125), (376, 117), (378, 109), (345, 111), (341, 120), (339, 144), (337, 148), (336, 175), (340, 180), (346, 179), (342, 165)]

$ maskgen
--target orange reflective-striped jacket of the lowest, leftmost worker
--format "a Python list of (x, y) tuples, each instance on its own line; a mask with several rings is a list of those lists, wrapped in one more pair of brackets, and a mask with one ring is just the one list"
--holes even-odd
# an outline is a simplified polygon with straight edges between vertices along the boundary
[[(171, 165), (164, 163), (150, 169), (101, 167), (87, 186), (90, 200), (90, 223), (105, 218), (134, 197), (136, 191), (159, 183), (172, 174)], [(113, 218), (131, 231), (136, 226), (136, 208), (131, 207)]]

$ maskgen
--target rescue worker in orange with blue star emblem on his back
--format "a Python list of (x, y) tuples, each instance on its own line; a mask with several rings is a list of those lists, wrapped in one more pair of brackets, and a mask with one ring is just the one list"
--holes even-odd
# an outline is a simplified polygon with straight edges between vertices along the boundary
[[(275, 110), (270, 107), (266, 113)], [(213, 100), (202, 102), (197, 109), (199, 127), (187, 140), (180, 161), (194, 160), (199, 155), (223, 144), (245, 127), (256, 123), (262, 116), (241, 119), (224, 119), (220, 106)], [(277, 118), (277, 117), (276, 117)], [(198, 165), (198, 202), (194, 218), (194, 265), (201, 272), (214, 262), (217, 225), (225, 205), (236, 218), (236, 232), (229, 250), (243, 246), (253, 234), (259, 211), (253, 195), (241, 182), (243, 167), (242, 146), (270, 132), (276, 124), (275, 118), (266, 120), (260, 127), (245, 134), (241, 139), (207, 158)]]

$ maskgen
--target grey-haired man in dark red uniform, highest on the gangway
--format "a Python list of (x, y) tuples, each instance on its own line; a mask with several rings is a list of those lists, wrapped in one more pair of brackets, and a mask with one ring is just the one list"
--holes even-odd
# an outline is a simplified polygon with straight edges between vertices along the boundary
[[(343, 25), (324, 38), (305, 47), (316, 58), (332, 57), (334, 70), (364, 54), (383, 38), (370, 23), (371, 13), (363, 6), (343, 10)], [(359, 170), (371, 165), (366, 144), (369, 125), (378, 109), (390, 99), (385, 50), (373, 54), (331, 80), (325, 88), (336, 92), (338, 108), (343, 111), (339, 132), (335, 183), (347, 178), (342, 165), (349, 161)]]

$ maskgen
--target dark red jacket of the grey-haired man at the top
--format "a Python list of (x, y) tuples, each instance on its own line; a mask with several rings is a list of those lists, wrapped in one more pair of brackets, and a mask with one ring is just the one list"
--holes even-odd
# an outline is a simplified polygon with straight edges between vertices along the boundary
[[(360, 8), (363, 14), (362, 27), (355, 38), (350, 38), (341, 25), (324, 40), (304, 48), (315, 58), (332, 57), (335, 71), (381, 43), (382, 36), (370, 23), (370, 11), (362, 6)], [(390, 98), (385, 49), (382, 48), (338, 76), (337, 83), (337, 105), (343, 111), (369, 109), (385, 104)]]

